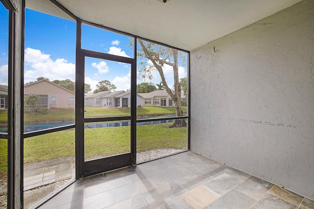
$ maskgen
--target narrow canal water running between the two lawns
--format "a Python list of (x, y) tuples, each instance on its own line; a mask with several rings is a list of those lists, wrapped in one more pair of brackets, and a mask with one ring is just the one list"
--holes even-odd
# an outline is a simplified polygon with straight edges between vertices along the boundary
[[(154, 117), (139, 117), (138, 119), (150, 119), (150, 118), (162, 118), (162, 117), (174, 117), (176, 115), (167, 115), (167, 116), (154, 116)], [(160, 123), (170, 123), (174, 122), (174, 120), (158, 120), (158, 121), (149, 121), (149, 122), (137, 122), (137, 125), (151, 125), (151, 124), (160, 124)], [(24, 125), (24, 132), (38, 131), (43, 129), (55, 128), (65, 125), (74, 124), (73, 121), (66, 122), (49, 122), (49, 123), (29, 123)], [(123, 122), (101, 122), (101, 123), (87, 123), (84, 125), (85, 129), (88, 128), (106, 128), (106, 127), (119, 127), (119, 126), (130, 126), (131, 121), (123, 121)], [(7, 132), (7, 126), (1, 126), (0, 132)]]

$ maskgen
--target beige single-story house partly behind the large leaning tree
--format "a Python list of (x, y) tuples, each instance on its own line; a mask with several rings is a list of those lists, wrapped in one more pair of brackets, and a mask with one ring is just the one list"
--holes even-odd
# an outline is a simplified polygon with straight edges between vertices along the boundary
[[(140, 93), (142, 96), (143, 106), (152, 106), (152, 107), (172, 107), (175, 106), (174, 101), (166, 90), (156, 90), (150, 93)], [(184, 95), (181, 93), (181, 101), (183, 101)]]

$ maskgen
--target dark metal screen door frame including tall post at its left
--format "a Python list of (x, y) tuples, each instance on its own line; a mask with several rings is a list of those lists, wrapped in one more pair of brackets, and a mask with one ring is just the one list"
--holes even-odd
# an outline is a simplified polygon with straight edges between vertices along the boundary
[[(85, 57), (104, 59), (108, 61), (121, 62), (131, 65), (131, 101), (136, 101), (136, 59), (120, 57), (112, 54), (91, 51), (81, 48), (81, 23), (77, 20), (77, 50), (76, 50), (76, 178), (82, 178), (97, 173), (114, 170), (136, 163), (136, 102), (131, 103), (130, 116), (116, 117), (94, 117), (84, 118), (84, 68)], [(134, 50), (136, 49), (136, 38), (134, 37)], [(131, 120), (131, 152), (110, 156), (92, 161), (84, 161), (84, 123)]]

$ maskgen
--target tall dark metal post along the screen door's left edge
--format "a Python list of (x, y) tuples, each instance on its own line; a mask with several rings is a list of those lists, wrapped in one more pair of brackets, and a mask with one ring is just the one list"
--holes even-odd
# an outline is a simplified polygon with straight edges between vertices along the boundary
[(75, 82), (75, 166), (76, 179), (84, 173), (84, 56), (81, 53), (82, 21), (77, 19)]

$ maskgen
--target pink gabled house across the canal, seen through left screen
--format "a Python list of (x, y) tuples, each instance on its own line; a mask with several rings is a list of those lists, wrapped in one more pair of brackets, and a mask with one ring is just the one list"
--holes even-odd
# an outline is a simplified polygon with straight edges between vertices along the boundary
[[(43, 79), (24, 86), (24, 95), (35, 93), (40, 102), (36, 104), (38, 108), (48, 109), (74, 109), (75, 93), (57, 84)], [(25, 107), (27, 105), (25, 104)]]

